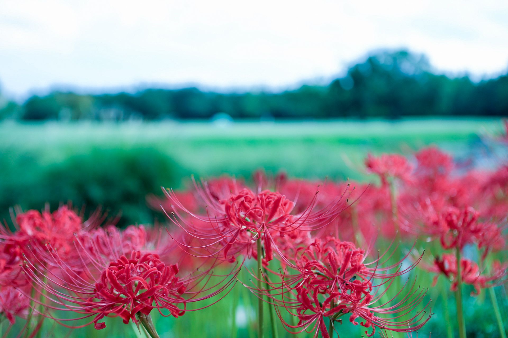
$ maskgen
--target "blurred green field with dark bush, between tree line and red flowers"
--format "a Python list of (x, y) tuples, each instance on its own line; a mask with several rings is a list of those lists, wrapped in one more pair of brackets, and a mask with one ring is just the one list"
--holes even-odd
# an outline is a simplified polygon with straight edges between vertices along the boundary
[(438, 144), (457, 157), (497, 133), (494, 119), (231, 123), (0, 124), (0, 210), (73, 201), (121, 211), (121, 225), (153, 222), (147, 194), (190, 175), (285, 171), (302, 178), (364, 178), (369, 152)]

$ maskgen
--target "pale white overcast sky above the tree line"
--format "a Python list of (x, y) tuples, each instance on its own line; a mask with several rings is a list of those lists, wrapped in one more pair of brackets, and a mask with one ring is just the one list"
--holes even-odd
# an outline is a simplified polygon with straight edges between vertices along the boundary
[(508, 2), (0, 0), (0, 84), (293, 86), (372, 49), (425, 53), (440, 71), (508, 68)]

